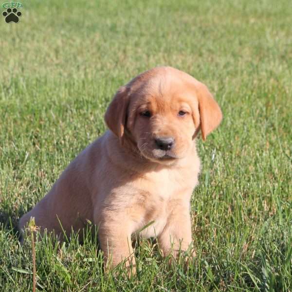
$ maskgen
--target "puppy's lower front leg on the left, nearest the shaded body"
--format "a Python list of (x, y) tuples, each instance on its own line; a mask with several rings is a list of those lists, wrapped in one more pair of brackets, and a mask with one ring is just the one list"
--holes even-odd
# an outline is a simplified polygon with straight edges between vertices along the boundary
[(103, 218), (98, 230), (99, 244), (104, 252), (105, 263), (111, 268), (127, 259), (126, 265), (133, 267), (136, 263), (131, 242), (131, 223), (127, 218)]

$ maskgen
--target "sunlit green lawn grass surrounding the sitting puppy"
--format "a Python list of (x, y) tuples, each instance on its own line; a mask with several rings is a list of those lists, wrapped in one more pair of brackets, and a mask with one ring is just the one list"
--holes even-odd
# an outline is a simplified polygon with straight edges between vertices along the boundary
[(207, 84), (224, 115), (198, 141), (197, 257), (170, 268), (145, 240), (128, 279), (103, 273), (90, 235), (83, 245), (44, 238), (37, 289), (292, 291), (292, 2), (22, 2), (18, 24), (0, 19), (1, 291), (32, 290), (17, 219), (104, 132), (118, 87), (157, 65)]

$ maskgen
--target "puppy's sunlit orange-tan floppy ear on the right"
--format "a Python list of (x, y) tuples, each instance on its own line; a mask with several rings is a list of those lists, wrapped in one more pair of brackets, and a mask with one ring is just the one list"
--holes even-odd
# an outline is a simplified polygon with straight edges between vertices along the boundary
[(205, 141), (207, 135), (219, 126), (222, 120), (222, 112), (218, 103), (203, 83), (198, 82), (196, 90), (199, 102), (200, 128), (202, 139)]

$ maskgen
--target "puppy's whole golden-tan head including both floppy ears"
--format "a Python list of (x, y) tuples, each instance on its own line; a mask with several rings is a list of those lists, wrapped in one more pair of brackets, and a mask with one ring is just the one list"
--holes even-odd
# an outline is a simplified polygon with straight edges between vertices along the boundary
[(151, 69), (121, 87), (105, 115), (122, 143), (133, 140), (144, 157), (161, 164), (185, 157), (199, 129), (205, 140), (221, 119), (208, 88), (171, 67)]

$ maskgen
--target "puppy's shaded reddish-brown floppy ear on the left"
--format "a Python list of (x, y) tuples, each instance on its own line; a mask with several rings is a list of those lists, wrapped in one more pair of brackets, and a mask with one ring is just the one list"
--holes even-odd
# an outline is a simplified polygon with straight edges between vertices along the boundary
[(128, 88), (122, 86), (116, 92), (105, 114), (107, 126), (120, 139), (122, 144), (127, 122), (128, 105)]

